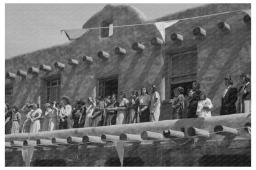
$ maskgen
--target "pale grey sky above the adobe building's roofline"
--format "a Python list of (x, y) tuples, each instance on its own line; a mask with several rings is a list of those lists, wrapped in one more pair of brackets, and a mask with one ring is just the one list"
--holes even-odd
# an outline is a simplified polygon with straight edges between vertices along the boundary
[[(117, 5), (117, 4), (114, 4)], [(202, 4), (128, 4), (154, 19)], [(5, 58), (68, 42), (62, 29), (78, 29), (106, 4), (6, 4)]]

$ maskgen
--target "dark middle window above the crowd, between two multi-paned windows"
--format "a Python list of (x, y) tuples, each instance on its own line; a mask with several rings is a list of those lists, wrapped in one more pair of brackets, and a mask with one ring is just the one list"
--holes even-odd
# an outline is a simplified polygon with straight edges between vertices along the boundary
[(118, 95), (118, 76), (99, 79), (98, 81), (98, 95), (105, 98), (108, 95), (115, 93)]

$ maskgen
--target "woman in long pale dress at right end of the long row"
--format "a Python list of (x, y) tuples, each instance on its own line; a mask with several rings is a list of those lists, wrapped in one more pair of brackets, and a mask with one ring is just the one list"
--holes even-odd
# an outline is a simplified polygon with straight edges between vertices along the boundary
[(160, 116), (160, 95), (156, 91), (156, 85), (151, 85), (151, 106), (150, 106), (150, 122), (158, 122)]

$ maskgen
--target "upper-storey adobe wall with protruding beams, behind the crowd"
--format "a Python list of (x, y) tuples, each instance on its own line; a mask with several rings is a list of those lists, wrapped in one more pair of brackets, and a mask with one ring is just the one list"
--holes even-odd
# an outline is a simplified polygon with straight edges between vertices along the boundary
[[(166, 28), (164, 44), (154, 24), (114, 28), (110, 37), (106, 34), (108, 28), (90, 29), (68, 44), (7, 59), (6, 73), (14, 73), (11, 75), (15, 78), (7, 76), (6, 102), (22, 107), (38, 99), (41, 105), (58, 101), (62, 95), (72, 101), (119, 91), (129, 96), (133, 90), (140, 91), (142, 85), (150, 87), (154, 83), (162, 101), (160, 120), (168, 120), (173, 89), (182, 86), (187, 92), (197, 80), (212, 100), (212, 115), (219, 115), (225, 90), (223, 77), (230, 74), (234, 86), (239, 87), (241, 73), (250, 74), (251, 26), (250, 17), (244, 21), (248, 15), (243, 9), (250, 9), (250, 4), (209, 4), (147, 20), (134, 7), (107, 5), (82, 28), (179, 21)], [(224, 14), (210, 15), (219, 13)], [(199, 17), (203, 15), (210, 16)], [(182, 20), (191, 17), (196, 18)], [(160, 42), (152, 45), (153, 37)], [(142, 44), (143, 50), (133, 50), (135, 42)], [(116, 47), (123, 48), (125, 54), (116, 54)], [(105, 52), (102, 57), (100, 51)], [(24, 72), (15, 75), (18, 70)]]

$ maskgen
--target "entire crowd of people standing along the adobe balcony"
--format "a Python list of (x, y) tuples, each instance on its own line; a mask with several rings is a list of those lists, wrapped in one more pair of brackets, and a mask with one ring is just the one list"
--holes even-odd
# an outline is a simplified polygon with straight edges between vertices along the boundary
[[(230, 75), (225, 77), (226, 89), (222, 95), (220, 115), (250, 112), (250, 76), (241, 75), (242, 85), (237, 90), (233, 87)], [(132, 91), (127, 99), (126, 93), (119, 93), (119, 102), (116, 94), (103, 99), (98, 96), (86, 101), (80, 99), (71, 106), (68, 96), (61, 96), (60, 103), (55, 101), (45, 104), (44, 115), (38, 102), (25, 104), (18, 110), (17, 106), (10, 107), (6, 103), (6, 134), (36, 133), (38, 131), (54, 131), (56, 129), (84, 128), (94, 126), (122, 125), (140, 122), (158, 122), (160, 116), (161, 96), (156, 85), (151, 85), (151, 91), (143, 86), (138, 91)], [(238, 110), (236, 110), (236, 101)], [(200, 83), (193, 82), (192, 88), (185, 96), (184, 88), (174, 89), (172, 99), (172, 114), (170, 119), (211, 117), (213, 105), (205, 91), (201, 90)], [(26, 111), (25, 111), (26, 110)], [(21, 125), (20, 112), (26, 113), (26, 120)], [(184, 116), (186, 115), (186, 116)], [(41, 125), (41, 118), (44, 122)]]

